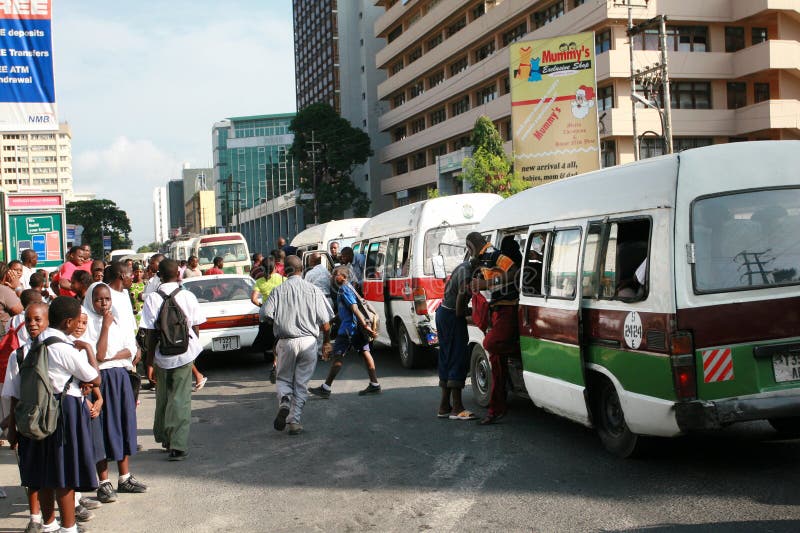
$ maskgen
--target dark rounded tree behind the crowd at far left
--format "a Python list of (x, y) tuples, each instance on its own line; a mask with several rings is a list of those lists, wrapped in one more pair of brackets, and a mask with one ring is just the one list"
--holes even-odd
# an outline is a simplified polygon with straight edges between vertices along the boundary
[(111, 200), (68, 203), (67, 223), (83, 226), (81, 244), (89, 244), (95, 254), (103, 249), (103, 235), (111, 236), (112, 250), (131, 247), (131, 222), (128, 214)]

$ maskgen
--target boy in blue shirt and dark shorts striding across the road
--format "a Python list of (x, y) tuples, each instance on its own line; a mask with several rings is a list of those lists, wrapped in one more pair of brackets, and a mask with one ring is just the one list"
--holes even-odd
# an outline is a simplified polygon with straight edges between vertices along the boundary
[[(373, 336), (377, 336), (377, 332), (367, 322), (367, 317), (358, 310), (358, 295), (353, 286), (348, 283), (349, 273), (350, 269), (346, 266), (336, 267), (336, 270), (333, 271), (333, 279), (339, 287), (337, 305), (341, 324), (336, 335), (336, 342), (333, 345), (333, 364), (328, 371), (328, 377), (325, 379), (325, 383), (319, 387), (309, 389), (311, 394), (320, 398), (331, 397), (331, 385), (333, 385), (333, 380), (336, 379), (336, 375), (342, 369), (344, 356), (350, 348), (354, 348), (361, 353), (369, 374), (369, 385), (367, 385), (366, 389), (358, 391), (358, 395), (365, 396), (367, 394), (380, 394), (381, 392), (378, 373), (375, 371), (375, 360), (369, 351), (369, 341), (364, 338), (364, 335), (359, 330), (359, 324), (362, 329)], [(327, 358), (324, 358), (324, 360), (327, 360)]]

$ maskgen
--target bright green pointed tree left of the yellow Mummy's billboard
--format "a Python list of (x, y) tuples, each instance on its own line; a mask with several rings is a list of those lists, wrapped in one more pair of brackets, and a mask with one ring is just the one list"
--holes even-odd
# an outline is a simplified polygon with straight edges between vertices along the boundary
[(490, 192), (506, 198), (530, 187), (514, 170), (514, 161), (503, 150), (503, 139), (485, 116), (478, 117), (471, 136), (474, 151), (462, 163), (459, 178), (474, 192)]

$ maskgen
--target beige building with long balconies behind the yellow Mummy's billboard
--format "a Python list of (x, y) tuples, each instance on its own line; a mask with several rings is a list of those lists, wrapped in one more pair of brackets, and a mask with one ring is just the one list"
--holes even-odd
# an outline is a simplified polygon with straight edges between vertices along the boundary
[[(378, 97), (390, 109), (380, 128), (391, 142), (381, 192), (396, 204), (426, 196), (437, 157), (460, 169), (475, 120), (488, 116), (512, 151), (511, 43), (595, 32), (601, 164), (632, 161), (633, 111), (628, 9), (595, 0), (379, 0), (375, 35), (388, 78)], [(644, 6), (641, 0), (633, 5)], [(790, 5), (791, 4), (791, 5)], [(667, 22), (675, 150), (707, 144), (800, 138), (800, 19), (796, 2), (650, 0), (634, 23)], [(634, 69), (659, 62), (657, 30), (633, 39)], [(638, 91), (637, 91), (638, 92)], [(641, 157), (662, 152), (659, 111), (636, 112)], [(657, 135), (641, 136), (643, 132)]]

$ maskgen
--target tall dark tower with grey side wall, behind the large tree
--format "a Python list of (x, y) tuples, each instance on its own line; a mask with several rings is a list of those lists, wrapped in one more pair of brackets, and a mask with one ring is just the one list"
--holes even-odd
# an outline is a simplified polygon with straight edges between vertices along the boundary
[[(375, 66), (385, 40), (373, 31), (383, 9), (374, 0), (293, 0), (293, 11), (297, 109), (317, 102), (330, 104), (369, 135), (377, 154), (389, 142), (378, 124), (388, 109), (377, 95), (386, 74)], [(372, 214), (391, 206), (380, 190), (388, 173), (389, 167), (373, 156), (351, 174), (356, 187), (369, 197)]]

